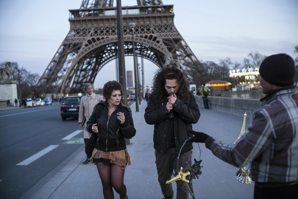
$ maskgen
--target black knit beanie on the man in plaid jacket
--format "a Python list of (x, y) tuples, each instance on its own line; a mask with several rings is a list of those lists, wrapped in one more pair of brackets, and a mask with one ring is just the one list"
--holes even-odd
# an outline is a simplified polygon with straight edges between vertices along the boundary
[(259, 69), (266, 82), (277, 86), (291, 86), (294, 83), (294, 60), (285, 53), (266, 57)]

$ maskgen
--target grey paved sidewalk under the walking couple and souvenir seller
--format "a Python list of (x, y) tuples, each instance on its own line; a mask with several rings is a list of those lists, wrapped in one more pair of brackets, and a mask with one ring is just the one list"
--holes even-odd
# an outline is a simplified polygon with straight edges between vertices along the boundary
[[(147, 103), (142, 101), (139, 112), (135, 112), (135, 104), (131, 106), (133, 112), (136, 136), (130, 139), (127, 150), (131, 156), (131, 165), (125, 169), (124, 183), (130, 199), (163, 198), (155, 165), (153, 149), (153, 125), (148, 125), (144, 119)], [(203, 110), (199, 107), (201, 118), (193, 125), (194, 130), (202, 131), (215, 139), (232, 144), (238, 137), (243, 116), (229, 114), (215, 110)], [(248, 121), (247, 121), (248, 122)], [(196, 198), (253, 198), (252, 184), (241, 184), (235, 178), (238, 168), (233, 167), (215, 156), (204, 144), (201, 148), (203, 165), (199, 179), (193, 180)], [(199, 159), (200, 152), (197, 144), (193, 144), (193, 158)], [(86, 154), (84, 146), (80, 152), (63, 169), (39, 189), (31, 199), (85, 199), (103, 198), (102, 185), (94, 164), (82, 164)], [(176, 198), (176, 183), (172, 183)], [(114, 197), (119, 195), (114, 192)], [(189, 197), (191, 198), (191, 196)]]

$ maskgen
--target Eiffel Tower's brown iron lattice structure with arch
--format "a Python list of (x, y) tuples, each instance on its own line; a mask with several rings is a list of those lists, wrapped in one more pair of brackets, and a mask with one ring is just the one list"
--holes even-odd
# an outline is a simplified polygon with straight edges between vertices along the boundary
[[(129, 27), (133, 21), (135, 49), (141, 52), (136, 56), (159, 68), (164, 55), (179, 59), (181, 65), (197, 61), (174, 25), (173, 5), (161, 0), (137, 0), (137, 4), (122, 7), (125, 56), (133, 55)], [(106, 63), (117, 58), (116, 13), (113, 0), (83, 0), (80, 9), (69, 10), (69, 33), (39, 80), (47, 91), (54, 93), (56, 86), (61, 94), (80, 92), (85, 83), (94, 83)]]

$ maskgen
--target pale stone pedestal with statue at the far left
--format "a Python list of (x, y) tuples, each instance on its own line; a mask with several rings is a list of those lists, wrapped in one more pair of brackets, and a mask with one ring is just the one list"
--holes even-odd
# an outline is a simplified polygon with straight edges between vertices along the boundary
[(5, 68), (0, 69), (0, 106), (7, 106), (7, 99), (10, 100), (10, 106), (14, 106), (15, 98), (18, 99), (17, 83), (11, 79), (11, 63), (7, 62)]

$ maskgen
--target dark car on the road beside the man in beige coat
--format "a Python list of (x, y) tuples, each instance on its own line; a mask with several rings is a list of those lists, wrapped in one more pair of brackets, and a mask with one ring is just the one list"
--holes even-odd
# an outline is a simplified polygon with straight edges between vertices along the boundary
[(82, 96), (64, 97), (61, 104), (61, 118), (66, 120), (67, 117), (78, 117)]

